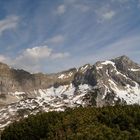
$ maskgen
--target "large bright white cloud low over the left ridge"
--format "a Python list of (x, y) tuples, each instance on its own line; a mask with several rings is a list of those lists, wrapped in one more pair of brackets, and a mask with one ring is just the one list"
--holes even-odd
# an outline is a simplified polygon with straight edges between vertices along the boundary
[(27, 48), (14, 59), (0, 55), (0, 61), (15, 68), (25, 69), (30, 72), (39, 72), (45, 67), (45, 62), (63, 59), (68, 56), (69, 53), (67, 52), (55, 52), (45, 45)]

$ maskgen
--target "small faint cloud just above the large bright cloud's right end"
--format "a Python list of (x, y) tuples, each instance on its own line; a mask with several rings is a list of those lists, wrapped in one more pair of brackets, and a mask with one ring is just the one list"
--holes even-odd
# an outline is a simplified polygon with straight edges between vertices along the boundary
[(64, 42), (64, 36), (63, 35), (56, 35), (50, 39), (48, 39), (46, 42), (49, 43), (49, 44), (54, 44), (54, 45), (57, 45), (57, 44), (61, 44)]

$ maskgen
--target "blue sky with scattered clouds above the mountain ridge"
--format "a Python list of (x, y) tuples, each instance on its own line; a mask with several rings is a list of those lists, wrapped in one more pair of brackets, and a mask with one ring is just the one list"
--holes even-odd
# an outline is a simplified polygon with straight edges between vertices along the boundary
[(140, 0), (0, 0), (0, 61), (52, 73), (127, 55), (140, 62)]

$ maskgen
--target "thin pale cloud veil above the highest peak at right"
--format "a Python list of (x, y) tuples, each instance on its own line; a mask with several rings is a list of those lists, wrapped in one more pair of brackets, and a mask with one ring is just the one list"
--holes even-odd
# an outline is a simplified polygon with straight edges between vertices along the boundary
[(96, 62), (99, 60), (112, 59), (121, 55), (128, 55), (131, 59), (140, 62), (140, 51), (138, 50), (140, 44), (140, 36), (125, 37), (113, 43), (105, 45), (103, 48), (96, 49), (92, 55), (89, 55), (83, 62)]

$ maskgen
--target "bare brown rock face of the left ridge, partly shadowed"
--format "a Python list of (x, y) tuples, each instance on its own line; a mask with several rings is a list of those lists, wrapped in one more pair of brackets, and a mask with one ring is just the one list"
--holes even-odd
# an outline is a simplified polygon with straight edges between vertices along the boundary
[[(2, 94), (8, 92), (32, 92), (37, 89), (46, 89), (56, 84), (69, 84), (73, 80), (72, 74), (76, 69), (70, 69), (64, 73), (66, 78), (59, 78), (58, 74), (30, 74), (24, 70), (9, 68), (6, 64), (0, 63), (0, 85)], [(71, 73), (71, 75), (69, 75)]]

